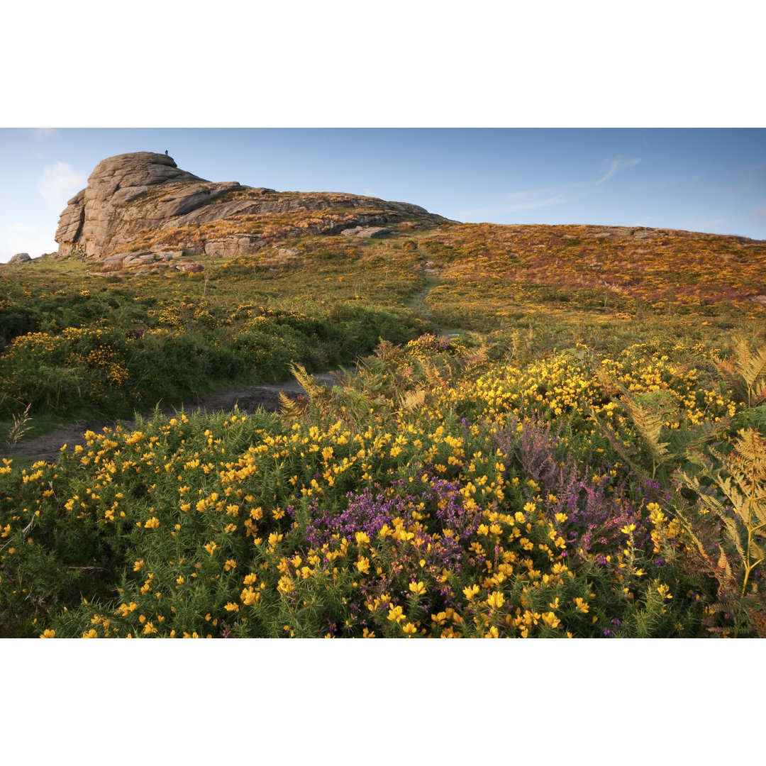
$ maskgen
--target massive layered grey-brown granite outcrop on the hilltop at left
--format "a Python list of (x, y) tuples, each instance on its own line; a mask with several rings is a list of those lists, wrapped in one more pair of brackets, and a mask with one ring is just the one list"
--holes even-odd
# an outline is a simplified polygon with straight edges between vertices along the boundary
[[(133, 152), (96, 166), (87, 187), (70, 199), (61, 214), (56, 241), (59, 255), (78, 253), (97, 260), (147, 250), (146, 237), (162, 230), (168, 231), (167, 237), (159, 237), (163, 248), (182, 247), (181, 240), (193, 230), (200, 252), (248, 255), (267, 244), (259, 225), (265, 217), (306, 211), (317, 214), (300, 226), (315, 234), (337, 233), (349, 224), (367, 226), (412, 216), (428, 223), (447, 222), (404, 202), (342, 194), (280, 194), (237, 182), (214, 183), (179, 169), (167, 155)], [(327, 214), (323, 216), (322, 211)], [(225, 221), (227, 226), (223, 231), (205, 227), (214, 221)], [(178, 241), (172, 241), (175, 233)]]

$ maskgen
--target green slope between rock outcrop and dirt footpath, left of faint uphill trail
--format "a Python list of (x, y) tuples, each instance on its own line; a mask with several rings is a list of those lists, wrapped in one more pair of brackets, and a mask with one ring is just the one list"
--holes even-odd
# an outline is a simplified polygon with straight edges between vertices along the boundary
[(397, 243), (308, 237), (300, 250), (199, 256), (199, 273), (89, 276), (91, 264), (50, 256), (6, 267), (0, 417), (28, 404), (48, 424), (93, 408), (130, 414), (224, 382), (280, 380), (290, 361), (336, 367), (427, 329), (404, 306), (417, 258)]

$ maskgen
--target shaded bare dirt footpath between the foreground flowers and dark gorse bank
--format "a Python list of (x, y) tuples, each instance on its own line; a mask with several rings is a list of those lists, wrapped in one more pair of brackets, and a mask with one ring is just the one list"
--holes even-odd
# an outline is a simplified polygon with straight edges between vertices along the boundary
[[(313, 375), (313, 378), (322, 385), (332, 385), (335, 382), (335, 375), (332, 372), (325, 372), (322, 375)], [(172, 416), (182, 408), (187, 414), (192, 412), (229, 412), (235, 406), (242, 412), (254, 412), (258, 408), (275, 412), (280, 408), (280, 391), (290, 398), (297, 398), (306, 391), (295, 378), (290, 378), (283, 383), (264, 383), (262, 385), (251, 386), (250, 388), (236, 388), (231, 391), (219, 391), (216, 394), (206, 394), (194, 401), (184, 401), (175, 404), (172, 407), (160, 408), (162, 414)], [(151, 419), (153, 412), (146, 413), (144, 417)], [(87, 430), (96, 433), (102, 433), (104, 427), (113, 428), (118, 421), (96, 421), (82, 420), (76, 421), (70, 425), (62, 426), (52, 430), (49, 434), (24, 439), (18, 442), (12, 449), (8, 444), (0, 444), (0, 457), (25, 458), (33, 460), (56, 460), (56, 457), (63, 444), (68, 447), (74, 447), (75, 444), (85, 444), (83, 434)], [(132, 429), (136, 424), (135, 420), (119, 421), (123, 428)]]

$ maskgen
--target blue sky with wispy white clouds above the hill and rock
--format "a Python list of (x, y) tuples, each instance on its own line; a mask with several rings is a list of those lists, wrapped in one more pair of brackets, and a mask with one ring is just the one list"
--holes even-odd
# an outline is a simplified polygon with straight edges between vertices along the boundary
[(211, 181), (348, 191), (458, 221), (766, 239), (766, 129), (0, 129), (0, 262), (55, 249), (100, 160), (168, 149)]

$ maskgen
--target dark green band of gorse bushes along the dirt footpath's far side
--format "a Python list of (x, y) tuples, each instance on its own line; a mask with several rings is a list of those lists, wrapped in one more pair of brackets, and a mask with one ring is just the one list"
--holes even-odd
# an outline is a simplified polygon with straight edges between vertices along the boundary
[[(182, 303), (183, 306), (183, 303)], [(153, 327), (67, 328), (15, 339), (0, 356), (0, 386), (8, 412), (66, 414), (83, 406), (129, 414), (137, 404), (178, 401), (222, 379), (273, 382), (291, 362), (310, 369), (347, 363), (381, 337), (407, 339), (413, 325), (385, 309), (350, 306), (323, 319), (263, 307), (239, 306), (214, 319), (195, 309), (190, 320), (174, 306)]]

